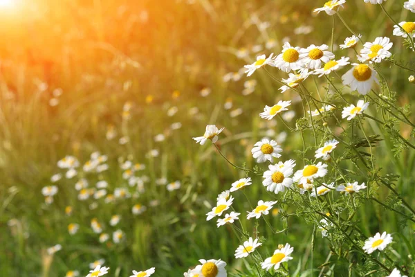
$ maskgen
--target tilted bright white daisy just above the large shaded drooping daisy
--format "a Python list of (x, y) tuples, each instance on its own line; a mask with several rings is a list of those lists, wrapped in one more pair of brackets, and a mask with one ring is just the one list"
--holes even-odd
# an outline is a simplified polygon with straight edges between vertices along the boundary
[(388, 50), (393, 45), (389, 37), (376, 37), (374, 42), (366, 42), (363, 45), (364, 48), (360, 51), (358, 59), (360, 62), (382, 62), (392, 55)]

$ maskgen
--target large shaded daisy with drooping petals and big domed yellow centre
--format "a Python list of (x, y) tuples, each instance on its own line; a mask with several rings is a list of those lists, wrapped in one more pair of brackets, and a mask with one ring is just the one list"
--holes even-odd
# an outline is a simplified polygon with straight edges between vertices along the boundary
[(342, 75), (344, 85), (350, 86), (352, 91), (367, 94), (372, 84), (378, 82), (376, 71), (367, 64), (352, 64), (353, 68)]

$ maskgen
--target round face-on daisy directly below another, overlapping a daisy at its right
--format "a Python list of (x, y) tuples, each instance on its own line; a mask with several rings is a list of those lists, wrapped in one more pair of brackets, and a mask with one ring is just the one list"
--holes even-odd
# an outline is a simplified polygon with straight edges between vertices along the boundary
[(269, 165), (268, 168), (269, 170), (264, 172), (262, 176), (264, 178), (262, 184), (266, 187), (266, 190), (278, 194), (293, 185), (293, 179), (290, 178), (293, 175), (293, 168), (280, 168), (278, 165)]

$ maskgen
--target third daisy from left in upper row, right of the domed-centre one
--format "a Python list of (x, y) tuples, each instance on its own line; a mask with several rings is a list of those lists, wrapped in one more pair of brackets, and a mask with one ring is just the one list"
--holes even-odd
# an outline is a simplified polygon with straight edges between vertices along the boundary
[(299, 51), (299, 58), (304, 62), (304, 66), (308, 69), (320, 69), (322, 62), (329, 62), (334, 59), (334, 54), (326, 51), (329, 46), (323, 44), (321, 46), (315, 46), (311, 44), (307, 48), (303, 48)]

